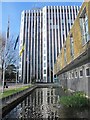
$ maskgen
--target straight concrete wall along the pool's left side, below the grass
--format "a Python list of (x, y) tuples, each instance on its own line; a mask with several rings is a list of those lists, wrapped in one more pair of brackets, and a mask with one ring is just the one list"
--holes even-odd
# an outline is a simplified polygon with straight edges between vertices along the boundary
[(3, 118), (10, 110), (12, 110), (17, 104), (19, 104), (25, 97), (27, 97), (37, 86), (31, 86), (25, 90), (14, 93), (8, 97), (2, 98), (0, 117)]

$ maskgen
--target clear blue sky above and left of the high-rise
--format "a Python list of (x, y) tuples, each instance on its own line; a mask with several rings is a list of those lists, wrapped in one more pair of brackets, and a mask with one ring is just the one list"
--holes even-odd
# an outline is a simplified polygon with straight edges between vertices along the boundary
[(0, 3), (2, 33), (6, 33), (8, 18), (10, 21), (10, 34), (17, 36), (20, 33), (20, 19), (23, 10), (31, 10), (35, 7), (42, 8), (51, 5), (82, 5), (82, 2), (2, 2)]

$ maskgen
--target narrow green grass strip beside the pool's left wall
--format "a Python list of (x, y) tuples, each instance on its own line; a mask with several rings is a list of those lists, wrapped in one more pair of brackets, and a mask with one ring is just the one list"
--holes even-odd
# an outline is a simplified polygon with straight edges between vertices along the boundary
[(4, 98), (4, 97), (7, 97), (9, 95), (12, 95), (14, 93), (17, 93), (19, 91), (22, 91), (22, 90), (25, 90), (29, 87), (31, 87), (32, 85), (28, 85), (28, 86), (23, 86), (23, 87), (20, 87), (20, 88), (14, 88), (14, 89), (10, 89), (10, 90), (5, 90), (3, 94), (0, 94), (0, 99), (1, 98)]

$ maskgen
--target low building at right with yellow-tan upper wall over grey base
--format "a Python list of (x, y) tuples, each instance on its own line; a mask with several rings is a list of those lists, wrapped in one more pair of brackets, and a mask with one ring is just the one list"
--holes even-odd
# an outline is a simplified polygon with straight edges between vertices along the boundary
[(84, 2), (54, 66), (60, 84), (90, 97), (90, 2)]

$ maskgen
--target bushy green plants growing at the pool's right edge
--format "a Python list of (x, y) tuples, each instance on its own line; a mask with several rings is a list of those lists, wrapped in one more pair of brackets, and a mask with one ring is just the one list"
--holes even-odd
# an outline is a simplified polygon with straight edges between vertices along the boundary
[(59, 103), (66, 107), (87, 107), (90, 106), (90, 101), (85, 97), (83, 92), (75, 92), (71, 96), (63, 96)]

